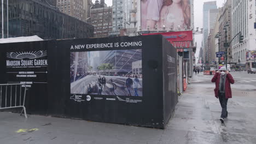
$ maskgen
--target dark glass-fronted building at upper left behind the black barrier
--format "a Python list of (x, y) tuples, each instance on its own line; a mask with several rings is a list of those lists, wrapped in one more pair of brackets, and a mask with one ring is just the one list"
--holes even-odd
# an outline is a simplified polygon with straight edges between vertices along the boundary
[[(4, 15), (6, 14), (4, 9)], [(7, 38), (6, 30), (5, 16), (4, 38)], [(45, 40), (88, 38), (92, 37), (93, 31), (91, 25), (61, 13), (45, 1), (9, 0), (9, 37), (38, 35)]]

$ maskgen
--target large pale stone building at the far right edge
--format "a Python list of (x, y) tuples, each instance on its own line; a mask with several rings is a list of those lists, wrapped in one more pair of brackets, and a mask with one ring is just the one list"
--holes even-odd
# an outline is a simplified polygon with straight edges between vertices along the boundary
[(239, 43), (239, 37), (232, 41), (232, 61), (240, 65), (246, 64), (246, 68), (252, 68), (254, 58), (250, 53), (256, 51), (255, 1), (232, 0), (231, 8), (232, 38), (239, 32), (244, 36), (243, 43)]

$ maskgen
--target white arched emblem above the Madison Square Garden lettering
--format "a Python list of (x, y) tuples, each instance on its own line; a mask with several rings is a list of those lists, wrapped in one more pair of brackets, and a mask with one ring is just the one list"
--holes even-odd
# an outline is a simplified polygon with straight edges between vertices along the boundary
[(47, 56), (47, 51), (25, 51), (25, 52), (7, 52), (8, 58), (13, 59), (35, 59)]

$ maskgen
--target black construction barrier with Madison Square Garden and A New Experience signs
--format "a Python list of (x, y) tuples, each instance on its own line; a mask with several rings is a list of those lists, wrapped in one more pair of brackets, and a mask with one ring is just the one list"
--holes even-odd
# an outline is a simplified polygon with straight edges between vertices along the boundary
[(178, 101), (176, 49), (162, 35), (0, 47), (0, 83), (26, 83), (28, 113), (164, 128)]

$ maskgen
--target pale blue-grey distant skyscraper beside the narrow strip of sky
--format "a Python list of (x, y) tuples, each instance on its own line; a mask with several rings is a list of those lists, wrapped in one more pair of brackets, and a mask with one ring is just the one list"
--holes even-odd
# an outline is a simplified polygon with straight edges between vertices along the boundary
[(206, 55), (205, 49), (208, 41), (208, 34), (210, 33), (210, 29), (213, 28), (213, 25), (215, 22), (215, 20), (212, 20), (211, 18), (211, 22), (213, 24), (210, 23), (210, 15), (211, 16), (214, 15), (213, 13), (214, 11), (211, 11), (212, 12), (211, 14), (209, 13), (210, 9), (217, 9), (216, 1), (203, 3), (203, 53), (204, 55), (202, 59), (205, 59), (205, 55)]

